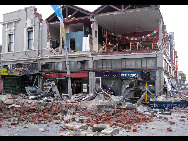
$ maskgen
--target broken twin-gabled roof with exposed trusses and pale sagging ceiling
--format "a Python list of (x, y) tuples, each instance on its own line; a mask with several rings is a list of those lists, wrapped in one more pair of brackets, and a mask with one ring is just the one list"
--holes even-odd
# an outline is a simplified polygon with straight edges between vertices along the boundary
[[(154, 31), (159, 28), (162, 18), (159, 5), (101, 5), (89, 12), (75, 5), (63, 5), (64, 23), (91, 23), (95, 17), (104, 29), (116, 33)], [(48, 22), (59, 21), (55, 12), (47, 18)]]

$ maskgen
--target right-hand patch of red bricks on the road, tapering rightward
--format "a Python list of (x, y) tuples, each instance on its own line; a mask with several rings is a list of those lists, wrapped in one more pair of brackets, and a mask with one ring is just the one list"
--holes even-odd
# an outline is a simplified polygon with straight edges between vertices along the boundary
[(134, 110), (123, 109), (85, 109), (79, 111), (80, 116), (87, 117), (86, 125), (93, 126), (94, 124), (109, 124), (110, 127), (128, 128), (128, 125), (135, 123), (150, 122), (153, 120), (152, 115), (143, 115)]

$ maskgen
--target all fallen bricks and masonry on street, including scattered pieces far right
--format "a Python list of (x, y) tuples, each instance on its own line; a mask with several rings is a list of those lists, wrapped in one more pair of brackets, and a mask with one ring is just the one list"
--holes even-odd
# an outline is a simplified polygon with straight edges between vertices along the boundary
[[(93, 97), (93, 95), (92, 95)], [(120, 129), (126, 132), (138, 132), (140, 125), (153, 122), (156, 118), (155, 112), (137, 110), (139, 108), (113, 108), (93, 106), (99, 99), (89, 101), (70, 100), (28, 100), (13, 98), (12, 104), (6, 104), (0, 100), (0, 128), (15, 128), (19, 125), (29, 128), (29, 124), (57, 124), (59, 135), (62, 136), (114, 136), (120, 133)], [(79, 99), (80, 100), (80, 99)], [(103, 100), (104, 102), (105, 100)], [(108, 99), (109, 103), (110, 99)], [(113, 102), (112, 102), (113, 103)], [(188, 113), (185, 108), (174, 108), (171, 112)], [(146, 114), (147, 113), (147, 114)], [(167, 112), (161, 112), (161, 115)], [(176, 124), (172, 119), (159, 116), (170, 125)], [(187, 116), (180, 116), (180, 121), (185, 121)], [(168, 121), (169, 120), (169, 121)], [(5, 124), (6, 122), (6, 124)], [(138, 126), (139, 125), (139, 126)], [(152, 128), (154, 129), (154, 128)], [(38, 128), (39, 132), (48, 132), (46, 128)], [(171, 128), (167, 128), (171, 132)]]

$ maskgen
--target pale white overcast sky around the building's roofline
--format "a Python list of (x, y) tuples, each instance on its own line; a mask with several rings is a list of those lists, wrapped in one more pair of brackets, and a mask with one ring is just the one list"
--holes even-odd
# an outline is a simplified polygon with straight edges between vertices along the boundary
[[(3, 21), (3, 14), (28, 6), (31, 5), (0, 5), (0, 22)], [(79, 6), (92, 12), (100, 5)], [(42, 14), (43, 19), (46, 19), (53, 13), (50, 5), (35, 5), (35, 7), (37, 8), (37, 12)], [(161, 5), (160, 10), (167, 32), (174, 32), (179, 71), (188, 74), (188, 17), (185, 16), (188, 13), (188, 5)], [(0, 44), (2, 44), (2, 25), (0, 25)]]

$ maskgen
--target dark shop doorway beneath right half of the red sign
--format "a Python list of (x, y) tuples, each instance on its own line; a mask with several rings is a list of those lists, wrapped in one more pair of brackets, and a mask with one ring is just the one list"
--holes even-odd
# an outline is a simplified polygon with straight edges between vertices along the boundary
[(82, 93), (82, 78), (72, 79), (72, 93), (73, 94)]

